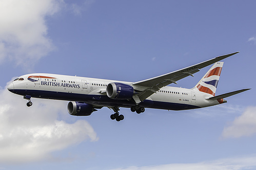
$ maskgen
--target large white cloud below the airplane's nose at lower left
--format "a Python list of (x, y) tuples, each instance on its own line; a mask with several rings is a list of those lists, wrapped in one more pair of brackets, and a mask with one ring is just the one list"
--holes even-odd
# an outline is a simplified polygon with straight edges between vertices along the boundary
[(29, 108), (26, 103), (22, 96), (0, 90), (0, 162), (44, 160), (53, 151), (97, 140), (85, 120), (58, 120), (59, 114), (68, 114), (67, 102), (33, 99)]

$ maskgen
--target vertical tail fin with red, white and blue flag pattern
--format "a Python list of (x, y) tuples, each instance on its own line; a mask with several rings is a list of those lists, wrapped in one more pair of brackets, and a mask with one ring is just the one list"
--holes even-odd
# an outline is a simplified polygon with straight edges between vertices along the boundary
[(193, 89), (215, 95), (224, 62), (216, 62)]

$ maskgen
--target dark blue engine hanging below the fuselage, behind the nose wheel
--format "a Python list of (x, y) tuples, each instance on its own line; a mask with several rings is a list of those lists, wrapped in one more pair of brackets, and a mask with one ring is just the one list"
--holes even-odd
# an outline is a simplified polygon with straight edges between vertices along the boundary
[(74, 116), (89, 116), (93, 111), (97, 111), (90, 104), (83, 102), (69, 102), (68, 113)]

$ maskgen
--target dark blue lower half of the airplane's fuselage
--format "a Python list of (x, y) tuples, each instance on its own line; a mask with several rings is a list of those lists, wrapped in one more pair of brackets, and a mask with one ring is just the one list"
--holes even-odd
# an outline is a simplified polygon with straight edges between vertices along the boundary
[[(56, 91), (45, 91), (45, 90), (10, 90), (11, 92), (19, 95), (30, 95), (32, 98), (41, 99), (53, 99), (53, 100), (64, 100), (64, 101), (75, 101), (85, 102), (91, 105), (99, 106), (119, 106), (119, 107), (131, 107), (135, 103), (129, 100), (116, 100), (110, 99), (107, 95), (96, 95), (96, 94), (78, 94), (78, 93), (67, 93), (67, 92), (56, 92)], [(180, 104), (180, 103), (169, 103), (145, 100), (140, 103), (141, 107), (154, 108), (154, 109), (165, 109), (165, 110), (188, 110), (197, 109), (198, 106)]]

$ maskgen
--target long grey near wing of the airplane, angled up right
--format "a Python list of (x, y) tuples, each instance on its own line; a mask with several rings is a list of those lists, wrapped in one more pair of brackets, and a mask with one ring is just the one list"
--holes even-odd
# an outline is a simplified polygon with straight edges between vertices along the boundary
[(223, 59), (225, 59), (227, 57), (230, 57), (230, 56), (232, 56), (234, 54), (237, 54), (237, 53), (239, 53), (239, 52), (227, 54), (227, 55), (224, 55), (224, 56), (215, 57), (213, 59), (204, 61), (204, 62), (199, 63), (199, 64), (195, 64), (195, 65), (192, 65), (192, 66), (189, 66), (189, 67), (177, 70), (177, 71), (169, 72), (168, 74), (165, 74), (165, 75), (161, 75), (161, 76), (157, 76), (157, 77), (154, 77), (154, 78), (151, 78), (151, 79), (135, 82), (135, 83), (132, 84), (132, 85), (134, 85), (134, 87), (144, 86), (144, 87), (148, 87), (148, 88), (139, 92), (138, 94), (134, 95), (133, 99), (135, 100), (136, 103), (140, 103), (141, 101), (144, 101), (145, 99), (147, 99), (150, 95), (155, 93), (160, 88), (162, 88), (164, 86), (167, 86), (171, 83), (176, 84), (176, 81), (181, 80), (181, 79), (183, 79), (185, 77), (188, 77), (188, 76), (193, 76), (193, 74), (195, 72), (200, 71), (201, 68), (204, 68), (208, 65), (211, 65), (215, 62), (223, 60)]

